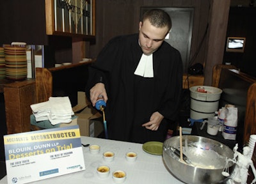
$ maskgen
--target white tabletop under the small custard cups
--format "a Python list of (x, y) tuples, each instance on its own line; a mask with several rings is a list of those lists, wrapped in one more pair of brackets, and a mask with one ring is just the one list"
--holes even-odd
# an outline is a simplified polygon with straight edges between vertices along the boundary
[[(108, 139), (100, 139), (95, 137), (81, 137), (83, 144), (98, 144), (100, 146), (100, 153), (92, 155), (88, 147), (83, 147), (84, 163), (86, 169), (77, 173), (65, 174), (55, 178), (35, 181), (33, 183), (54, 183), (54, 184), (100, 184), (113, 183), (111, 174), (108, 178), (99, 178), (96, 173), (96, 168), (99, 165), (108, 165), (111, 173), (115, 170), (124, 170), (127, 173), (127, 178), (124, 182), (132, 184), (156, 184), (156, 183), (172, 183), (180, 184), (164, 166), (163, 157), (161, 155), (150, 155), (142, 150), (142, 144), (132, 142), (113, 141)], [(113, 151), (115, 153), (115, 160), (113, 162), (106, 162), (102, 158), (104, 151)], [(136, 162), (127, 162), (125, 160), (125, 153), (128, 151), (135, 151), (138, 154)], [(0, 184), (7, 184), (7, 177), (4, 176), (0, 180)]]

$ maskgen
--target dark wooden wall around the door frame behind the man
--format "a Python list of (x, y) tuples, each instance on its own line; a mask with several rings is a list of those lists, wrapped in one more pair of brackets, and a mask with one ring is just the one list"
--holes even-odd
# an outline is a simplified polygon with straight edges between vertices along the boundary
[[(96, 43), (91, 45), (91, 56), (97, 57), (99, 51), (106, 43), (120, 34), (138, 33), (140, 21), (140, 7), (195, 7), (194, 29), (191, 42), (191, 65), (193, 63), (204, 63), (205, 42), (204, 33), (209, 20), (210, 0), (207, 1), (180, 1), (180, 0), (158, 0), (158, 1), (96, 1)], [(202, 45), (202, 47), (200, 47)]]

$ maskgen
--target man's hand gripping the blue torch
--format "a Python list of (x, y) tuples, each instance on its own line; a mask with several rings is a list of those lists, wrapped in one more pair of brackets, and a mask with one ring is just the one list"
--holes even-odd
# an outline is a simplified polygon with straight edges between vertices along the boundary
[(90, 100), (93, 107), (95, 106), (95, 103), (99, 96), (103, 96), (104, 101), (107, 103), (108, 95), (106, 93), (105, 85), (101, 82), (95, 84), (95, 86), (90, 89)]

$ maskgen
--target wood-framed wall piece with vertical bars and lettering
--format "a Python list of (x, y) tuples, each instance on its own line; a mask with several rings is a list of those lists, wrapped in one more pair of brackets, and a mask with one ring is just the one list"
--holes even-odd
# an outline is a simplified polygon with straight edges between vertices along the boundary
[(95, 0), (45, 0), (46, 34), (95, 37)]

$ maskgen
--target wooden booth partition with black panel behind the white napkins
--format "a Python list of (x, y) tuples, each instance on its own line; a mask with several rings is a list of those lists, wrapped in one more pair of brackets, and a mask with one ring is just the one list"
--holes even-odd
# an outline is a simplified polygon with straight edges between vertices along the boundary
[[(49, 100), (50, 96), (69, 96), (77, 103), (77, 91), (84, 91), (88, 80), (88, 66), (93, 61), (60, 66), (36, 68), (36, 101)], [(76, 97), (76, 99), (74, 99)]]

